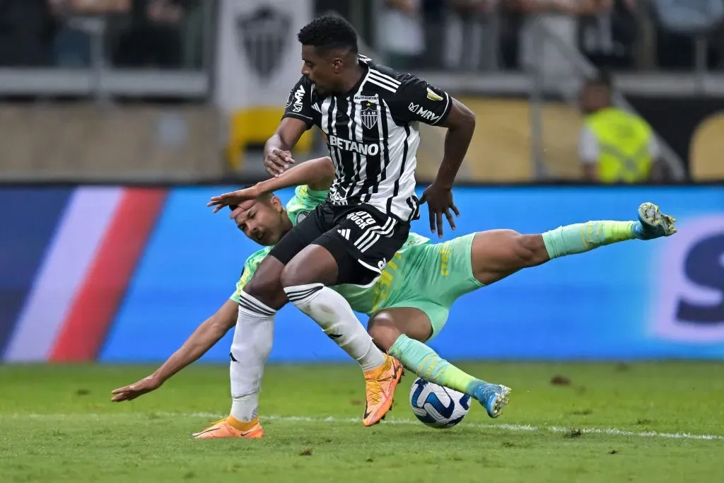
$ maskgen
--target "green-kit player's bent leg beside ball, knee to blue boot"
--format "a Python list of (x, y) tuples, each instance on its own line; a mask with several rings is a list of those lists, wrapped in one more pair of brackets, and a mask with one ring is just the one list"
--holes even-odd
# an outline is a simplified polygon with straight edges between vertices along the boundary
[(500, 416), (508, 403), (510, 388), (490, 384), (467, 374), (445, 361), (424, 344), (432, 337), (429, 316), (415, 307), (384, 308), (369, 319), (369, 334), (385, 350), (419, 377), (471, 396), (483, 405), (492, 418)]

